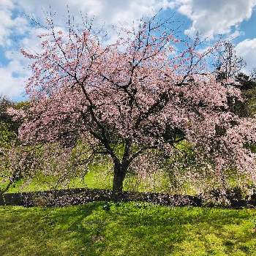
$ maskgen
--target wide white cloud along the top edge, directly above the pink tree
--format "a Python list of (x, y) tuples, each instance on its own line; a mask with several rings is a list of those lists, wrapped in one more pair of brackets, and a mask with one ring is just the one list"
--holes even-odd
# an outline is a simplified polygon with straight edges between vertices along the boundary
[(38, 7), (37, 1), (16, 1), (27, 13), (37, 18), (43, 18), (51, 9), (56, 12), (58, 23), (61, 25), (67, 17), (67, 5), (71, 15), (79, 19), (80, 12), (94, 16), (97, 22), (106, 24), (129, 23), (141, 16), (153, 15), (161, 8), (174, 7), (172, 0), (45, 0)]

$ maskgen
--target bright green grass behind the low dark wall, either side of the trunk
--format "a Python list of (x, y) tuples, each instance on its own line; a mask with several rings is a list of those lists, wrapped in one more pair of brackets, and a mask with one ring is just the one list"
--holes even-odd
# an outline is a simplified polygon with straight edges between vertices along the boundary
[[(33, 192), (53, 189), (56, 185), (53, 176), (45, 176), (37, 173), (37, 176), (30, 182), (20, 180), (13, 184), (8, 190), (9, 193), (17, 192)], [(89, 188), (89, 189), (112, 189), (113, 171), (109, 170), (107, 165), (93, 165), (89, 172), (83, 178), (71, 178), (67, 184), (61, 184), (58, 189), (67, 188)], [(54, 187), (55, 188), (55, 187)], [(167, 178), (163, 172), (155, 173), (154, 177), (148, 178), (146, 181), (140, 180), (136, 176), (128, 175), (124, 179), (124, 191), (138, 192), (169, 192), (167, 188)], [(8, 193), (7, 192), (7, 193)]]

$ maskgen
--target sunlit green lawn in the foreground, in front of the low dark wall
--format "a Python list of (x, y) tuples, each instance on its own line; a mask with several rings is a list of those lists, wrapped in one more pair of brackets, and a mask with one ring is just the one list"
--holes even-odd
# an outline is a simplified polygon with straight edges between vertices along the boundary
[[(110, 206), (110, 207), (108, 207)], [(256, 210), (0, 207), (0, 255), (256, 255)]]

